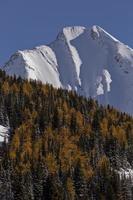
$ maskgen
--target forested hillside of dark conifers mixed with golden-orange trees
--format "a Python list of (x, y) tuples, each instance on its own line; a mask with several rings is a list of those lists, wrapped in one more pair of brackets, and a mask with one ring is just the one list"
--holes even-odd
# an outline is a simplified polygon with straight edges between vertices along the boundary
[(0, 200), (132, 200), (133, 118), (0, 71)]

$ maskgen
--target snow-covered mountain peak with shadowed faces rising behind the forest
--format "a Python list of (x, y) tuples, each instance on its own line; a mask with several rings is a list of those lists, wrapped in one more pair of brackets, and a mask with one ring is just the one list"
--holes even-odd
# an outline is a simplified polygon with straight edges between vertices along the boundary
[(99, 26), (66, 27), (50, 45), (18, 51), (3, 69), (133, 114), (133, 50)]

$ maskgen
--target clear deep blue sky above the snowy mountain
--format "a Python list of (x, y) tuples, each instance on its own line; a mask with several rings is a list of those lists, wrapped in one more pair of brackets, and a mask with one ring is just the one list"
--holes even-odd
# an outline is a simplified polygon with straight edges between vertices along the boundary
[(94, 24), (133, 47), (133, 0), (0, 0), (0, 65), (64, 26)]

